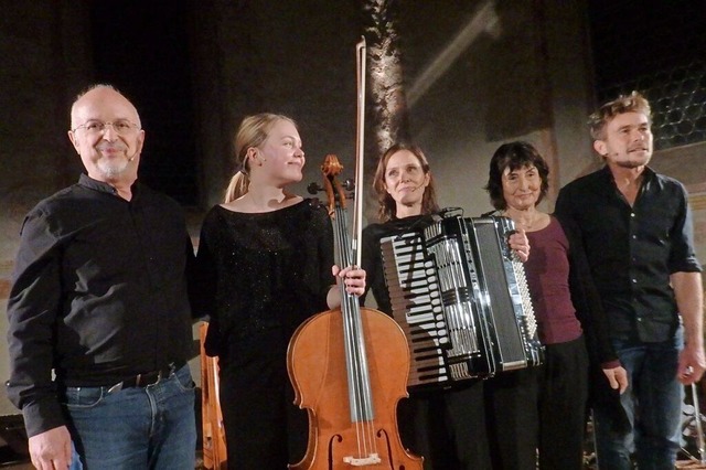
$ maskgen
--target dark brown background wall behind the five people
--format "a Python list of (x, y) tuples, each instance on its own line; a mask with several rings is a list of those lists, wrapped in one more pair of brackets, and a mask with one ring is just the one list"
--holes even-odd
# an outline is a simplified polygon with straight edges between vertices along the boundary
[[(24, 213), (81, 171), (66, 138), (68, 109), (93, 83), (113, 83), (137, 105), (147, 131), (140, 178), (186, 207), (194, 235), (221, 199), (231, 140), (248, 114), (299, 122), (308, 163), (298, 192), (319, 180), (329, 152), (352, 175), (361, 3), (0, 0), (0, 310)], [(590, 110), (642, 89), (655, 109), (655, 168), (687, 184), (706, 258), (706, 2), (393, 3), (409, 130), (441, 182), (442, 205), (488, 211), (490, 156), (525, 139), (549, 161), (550, 210), (558, 188), (599, 165)], [(377, 157), (366, 154), (366, 165)], [(372, 220), (375, 207), (365, 213)]]

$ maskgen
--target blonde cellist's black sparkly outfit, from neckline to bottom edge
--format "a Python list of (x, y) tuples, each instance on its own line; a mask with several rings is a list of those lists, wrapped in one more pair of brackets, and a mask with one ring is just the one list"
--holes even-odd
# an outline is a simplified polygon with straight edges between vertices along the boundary
[(206, 351), (220, 357), (229, 468), (284, 469), (303, 456), (307, 414), (292, 404), (287, 345), (304, 319), (328, 310), (332, 265), (331, 222), (312, 200), (206, 215), (195, 303), (211, 318)]

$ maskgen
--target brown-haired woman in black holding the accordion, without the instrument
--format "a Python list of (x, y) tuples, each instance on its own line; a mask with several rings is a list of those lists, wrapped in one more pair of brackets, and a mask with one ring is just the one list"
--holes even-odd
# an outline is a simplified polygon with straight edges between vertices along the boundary
[[(381, 223), (363, 231), (362, 268), (377, 309), (392, 314), (385, 284), (381, 239), (432, 223), (439, 212), (429, 163), (417, 146), (396, 143), (379, 159), (373, 182)], [(511, 246), (526, 259), (528, 245), (522, 234)], [(402, 441), (424, 456), (425, 469), (490, 469), (485, 435), (483, 381), (469, 380), (451, 386), (410, 389), (398, 405)]]

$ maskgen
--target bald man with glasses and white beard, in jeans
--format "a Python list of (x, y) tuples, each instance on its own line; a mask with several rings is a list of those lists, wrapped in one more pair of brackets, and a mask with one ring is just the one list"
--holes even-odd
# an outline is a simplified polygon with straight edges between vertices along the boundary
[(109, 85), (78, 96), (78, 183), (25, 217), (8, 302), (10, 399), (39, 469), (194, 468), (181, 207), (137, 182), (145, 130)]

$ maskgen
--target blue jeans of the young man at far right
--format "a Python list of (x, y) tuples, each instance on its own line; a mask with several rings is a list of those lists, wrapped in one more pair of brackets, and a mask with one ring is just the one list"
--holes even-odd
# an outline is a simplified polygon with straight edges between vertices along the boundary
[[(660, 343), (629, 343), (613, 340), (628, 371), (630, 385), (620, 396), (629, 427), (618, 429), (614, 408), (596, 404), (596, 448), (601, 470), (632, 469), (635, 452), (640, 470), (673, 470), (680, 448), (684, 387), (676, 378), (684, 333)], [(612, 413), (611, 413), (612, 412)], [(624, 426), (623, 426), (624, 428)]]

